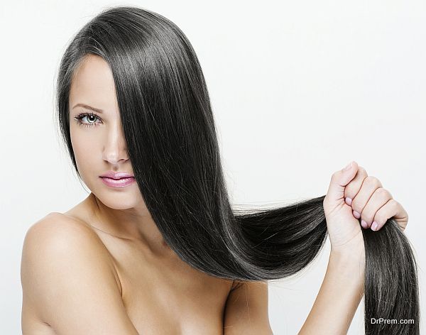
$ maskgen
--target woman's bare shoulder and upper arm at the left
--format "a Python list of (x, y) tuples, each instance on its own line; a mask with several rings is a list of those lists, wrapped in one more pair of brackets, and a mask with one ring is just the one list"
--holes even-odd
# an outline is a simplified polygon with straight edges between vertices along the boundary
[(62, 216), (33, 224), (23, 242), (23, 309), (61, 335), (138, 334), (103, 248), (89, 228)]

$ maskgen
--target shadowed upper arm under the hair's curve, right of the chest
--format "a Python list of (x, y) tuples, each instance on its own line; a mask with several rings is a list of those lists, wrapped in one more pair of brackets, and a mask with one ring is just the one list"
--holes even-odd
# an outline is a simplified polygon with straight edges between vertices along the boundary
[(226, 300), (224, 335), (273, 334), (268, 317), (268, 282), (239, 282)]

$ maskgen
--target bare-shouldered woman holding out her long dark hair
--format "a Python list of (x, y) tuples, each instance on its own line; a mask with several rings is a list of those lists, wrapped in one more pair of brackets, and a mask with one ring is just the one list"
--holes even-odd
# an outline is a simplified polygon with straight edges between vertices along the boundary
[(58, 121), (91, 193), (28, 229), (23, 334), (271, 334), (267, 280), (305, 268), (327, 234), (300, 334), (344, 334), (364, 292), (366, 334), (418, 334), (408, 214), (363, 167), (323, 197), (231, 209), (200, 64), (167, 18), (124, 6), (89, 21), (62, 57)]

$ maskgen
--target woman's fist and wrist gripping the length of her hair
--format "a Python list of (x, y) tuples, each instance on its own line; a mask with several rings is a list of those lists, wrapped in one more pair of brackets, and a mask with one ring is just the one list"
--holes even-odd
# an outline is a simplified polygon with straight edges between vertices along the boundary
[(408, 224), (408, 213), (401, 204), (356, 162), (334, 172), (323, 206), (332, 252), (357, 255), (364, 260), (361, 226), (378, 231), (391, 217), (402, 230)]

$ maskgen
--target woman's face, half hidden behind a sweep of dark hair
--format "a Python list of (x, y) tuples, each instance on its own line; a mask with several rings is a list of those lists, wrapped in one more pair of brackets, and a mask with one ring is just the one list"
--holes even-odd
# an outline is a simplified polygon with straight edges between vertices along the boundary
[(75, 72), (69, 108), (72, 148), (77, 168), (89, 190), (112, 209), (128, 209), (141, 204), (145, 207), (134, 178), (128, 186), (112, 187), (105, 183), (108, 179), (100, 177), (111, 171), (133, 176), (121, 128), (114, 78), (102, 57), (87, 56)]

